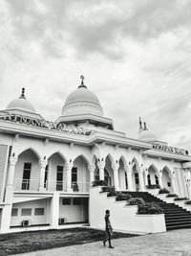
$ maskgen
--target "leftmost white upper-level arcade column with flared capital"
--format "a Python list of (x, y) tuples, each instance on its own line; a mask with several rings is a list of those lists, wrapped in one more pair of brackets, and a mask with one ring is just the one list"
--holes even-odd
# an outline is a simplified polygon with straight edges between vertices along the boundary
[(8, 172), (8, 182), (6, 186), (5, 202), (11, 203), (13, 196), (13, 186), (14, 186), (14, 171), (15, 164), (17, 162), (17, 157), (10, 157), (9, 172)]

